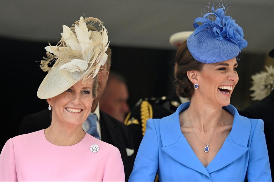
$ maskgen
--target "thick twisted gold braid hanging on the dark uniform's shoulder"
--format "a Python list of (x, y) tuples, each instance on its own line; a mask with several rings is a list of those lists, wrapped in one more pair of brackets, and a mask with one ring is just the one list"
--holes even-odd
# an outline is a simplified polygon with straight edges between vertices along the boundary
[(142, 135), (146, 132), (146, 121), (153, 117), (152, 106), (148, 101), (141, 103), (141, 122), (142, 122)]

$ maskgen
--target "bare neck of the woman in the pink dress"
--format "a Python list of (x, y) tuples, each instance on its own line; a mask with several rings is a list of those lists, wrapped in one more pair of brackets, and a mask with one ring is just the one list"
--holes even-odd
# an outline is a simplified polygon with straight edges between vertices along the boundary
[(51, 126), (45, 129), (45, 137), (47, 140), (57, 146), (71, 146), (80, 142), (85, 132), (80, 126), (68, 126), (57, 120), (52, 120)]

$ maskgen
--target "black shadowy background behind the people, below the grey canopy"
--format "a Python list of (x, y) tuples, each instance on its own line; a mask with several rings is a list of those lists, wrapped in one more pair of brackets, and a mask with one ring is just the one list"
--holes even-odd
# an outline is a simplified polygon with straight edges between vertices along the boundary
[[(47, 108), (45, 100), (36, 96), (46, 73), (40, 60), (46, 55), (47, 42), (28, 42), (0, 38), (2, 126), (0, 148), (18, 134), (23, 117)], [(51, 42), (54, 45), (53, 42)], [(173, 67), (176, 50), (111, 46), (112, 71), (122, 74), (128, 83), (132, 107), (140, 98), (160, 97), (174, 93)], [(265, 55), (242, 54), (239, 83), (231, 104), (239, 110), (251, 104), (251, 74), (261, 71)]]

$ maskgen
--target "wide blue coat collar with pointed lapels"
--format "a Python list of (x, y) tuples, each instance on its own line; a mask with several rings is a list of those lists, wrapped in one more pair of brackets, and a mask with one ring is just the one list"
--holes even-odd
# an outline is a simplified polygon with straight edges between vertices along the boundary
[(210, 173), (229, 165), (248, 150), (251, 123), (248, 118), (240, 116), (234, 106), (223, 107), (234, 116), (232, 129), (215, 158), (205, 168), (180, 129), (179, 114), (189, 105), (190, 102), (180, 105), (175, 113), (160, 120), (162, 150), (174, 160), (209, 177)]

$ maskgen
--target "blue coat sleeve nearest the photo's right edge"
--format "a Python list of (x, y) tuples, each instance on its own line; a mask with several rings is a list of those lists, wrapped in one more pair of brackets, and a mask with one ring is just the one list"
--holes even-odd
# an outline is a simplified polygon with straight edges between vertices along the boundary
[(249, 148), (247, 181), (271, 181), (269, 157), (263, 127), (263, 120), (259, 119)]

